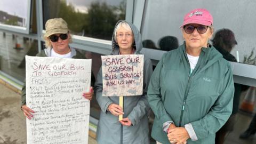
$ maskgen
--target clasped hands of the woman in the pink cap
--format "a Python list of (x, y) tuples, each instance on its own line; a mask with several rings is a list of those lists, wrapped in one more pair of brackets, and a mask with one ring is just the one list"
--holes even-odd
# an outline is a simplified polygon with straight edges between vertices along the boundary
[(189, 139), (189, 134), (185, 127), (176, 127), (174, 124), (171, 124), (167, 133), (170, 143), (186, 144), (187, 139)]

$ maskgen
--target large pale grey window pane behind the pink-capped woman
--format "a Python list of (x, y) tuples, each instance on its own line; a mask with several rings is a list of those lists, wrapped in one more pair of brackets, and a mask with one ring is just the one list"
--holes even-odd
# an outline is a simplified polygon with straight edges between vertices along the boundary
[[(214, 5), (214, 6), (213, 6)], [(180, 26), (190, 10), (204, 7), (213, 15), (215, 32), (226, 28), (233, 31), (237, 45), (231, 50), (238, 62), (256, 65), (254, 15), (256, 2), (239, 1), (147, 1), (142, 25), (143, 46), (170, 51), (183, 43)], [(161, 12), (159, 12), (161, 10)], [(235, 23), (234, 23), (235, 22)], [(229, 34), (227, 40), (233, 39)], [(223, 47), (222, 47), (223, 48)]]

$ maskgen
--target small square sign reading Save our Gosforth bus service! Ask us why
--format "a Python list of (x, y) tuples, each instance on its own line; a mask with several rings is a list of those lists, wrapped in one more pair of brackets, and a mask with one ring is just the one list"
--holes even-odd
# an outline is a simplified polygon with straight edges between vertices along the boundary
[(144, 55), (106, 55), (102, 60), (102, 95), (142, 95)]

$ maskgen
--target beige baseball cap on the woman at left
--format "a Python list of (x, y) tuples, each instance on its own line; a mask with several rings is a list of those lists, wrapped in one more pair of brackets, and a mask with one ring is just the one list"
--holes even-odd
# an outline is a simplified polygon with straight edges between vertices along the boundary
[(62, 18), (49, 19), (45, 23), (45, 35), (49, 37), (53, 34), (67, 34), (68, 33), (68, 24)]

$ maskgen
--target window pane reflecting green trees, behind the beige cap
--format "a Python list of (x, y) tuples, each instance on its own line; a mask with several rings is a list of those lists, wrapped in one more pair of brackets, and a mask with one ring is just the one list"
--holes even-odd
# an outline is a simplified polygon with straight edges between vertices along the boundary
[(125, 19), (125, 7), (125, 0), (45, 0), (43, 19), (45, 24), (48, 19), (63, 18), (71, 34), (111, 40), (116, 22)]

